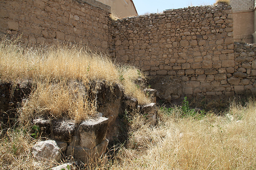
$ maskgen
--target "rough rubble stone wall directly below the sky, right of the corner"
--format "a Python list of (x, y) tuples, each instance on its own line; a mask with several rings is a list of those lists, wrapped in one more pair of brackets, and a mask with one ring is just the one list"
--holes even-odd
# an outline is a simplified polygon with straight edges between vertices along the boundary
[(233, 16), (217, 5), (164, 11), (112, 24), (110, 55), (148, 75), (177, 76), (186, 95), (224, 95), (235, 66)]

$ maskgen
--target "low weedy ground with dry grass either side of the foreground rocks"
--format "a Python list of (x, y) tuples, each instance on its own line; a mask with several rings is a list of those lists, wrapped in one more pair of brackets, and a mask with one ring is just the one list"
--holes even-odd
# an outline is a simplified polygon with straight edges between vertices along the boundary
[[(217, 116), (211, 111), (196, 112), (184, 100), (182, 106), (159, 108), (156, 126), (145, 124), (137, 113), (129, 118), (127, 145), (119, 146), (114, 157), (107, 153), (89, 169), (254, 170), (256, 101), (230, 103), (223, 116)], [(38, 140), (22, 126), (9, 129), (0, 139), (1, 169), (47, 169), (34, 163), (31, 155)]]

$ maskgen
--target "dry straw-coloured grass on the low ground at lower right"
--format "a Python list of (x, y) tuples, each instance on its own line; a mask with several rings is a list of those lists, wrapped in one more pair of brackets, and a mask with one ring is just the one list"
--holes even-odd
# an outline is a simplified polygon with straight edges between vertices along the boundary
[[(137, 126), (129, 147), (121, 148), (111, 169), (256, 169), (256, 102), (233, 103), (230, 116), (175, 118), (160, 112), (158, 126)], [(240, 120), (240, 121), (237, 121)], [(138, 121), (136, 124), (138, 125)]]

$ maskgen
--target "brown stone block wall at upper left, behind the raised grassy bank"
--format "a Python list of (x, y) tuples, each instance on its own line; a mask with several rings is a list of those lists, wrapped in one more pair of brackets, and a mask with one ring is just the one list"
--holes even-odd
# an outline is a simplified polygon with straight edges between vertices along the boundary
[(103, 10), (91, 1), (2, 0), (0, 32), (22, 35), (22, 41), (30, 43), (69, 41), (106, 51), (110, 7), (100, 3)]

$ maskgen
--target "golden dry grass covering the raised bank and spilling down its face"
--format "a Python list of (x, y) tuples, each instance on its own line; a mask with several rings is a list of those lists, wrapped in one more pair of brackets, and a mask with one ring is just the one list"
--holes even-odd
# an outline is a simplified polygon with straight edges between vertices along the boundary
[(125, 94), (149, 100), (135, 81), (144, 78), (134, 67), (118, 66), (106, 55), (95, 54), (81, 46), (29, 46), (18, 39), (0, 42), (0, 80), (20, 83), (31, 81), (33, 92), (21, 113), (23, 122), (33, 116), (63, 116), (76, 122), (97, 113), (96, 97), (89, 93), (89, 82), (104, 81), (108, 86), (121, 84)]

